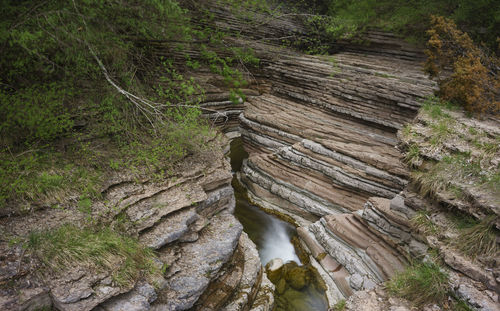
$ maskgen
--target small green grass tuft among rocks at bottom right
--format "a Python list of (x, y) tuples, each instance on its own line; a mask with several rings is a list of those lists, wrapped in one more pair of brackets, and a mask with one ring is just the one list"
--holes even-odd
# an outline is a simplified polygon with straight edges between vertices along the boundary
[(442, 304), (448, 296), (448, 275), (434, 263), (417, 263), (386, 283), (389, 292), (415, 306)]

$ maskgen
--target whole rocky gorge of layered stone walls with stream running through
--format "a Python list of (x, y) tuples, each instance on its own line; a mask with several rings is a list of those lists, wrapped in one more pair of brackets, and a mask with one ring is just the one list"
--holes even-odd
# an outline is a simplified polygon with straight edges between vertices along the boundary
[[(331, 42), (328, 55), (308, 55), (280, 44), (280, 38), (309, 36), (300, 14), (254, 12), (250, 19), (204, 2), (209, 22), (230, 34), (224, 44), (252, 49), (260, 60), (245, 67), (249, 84), (234, 103), (224, 77), (208, 67), (186, 68), (204, 90), (202, 117), (216, 128), (209, 147), (185, 157), (165, 180), (117, 172), (90, 214), (154, 250), (161, 273), (125, 286), (112, 281), (112, 271), (77, 263), (58, 274), (39, 273), (21, 244), (1, 239), (0, 309), (327, 311), (347, 301), (342, 310), (415, 310), (383, 283), (437, 253), (457, 299), (474, 310), (500, 310), (498, 257), (471, 260), (414, 225), (431, 205), (427, 217), (445, 228), (450, 210), (479, 220), (500, 213), (495, 195), (479, 193), (468, 210), (459, 199), (443, 194), (436, 201), (419, 192), (404, 160), (415, 138), (403, 132), (429, 124), (419, 109), (438, 90), (423, 73), (423, 49), (370, 29), (362, 43)], [(193, 21), (206, 23), (206, 12), (180, 3)], [(204, 42), (182, 51), (171, 42), (141, 44), (175, 62), (185, 54), (203, 59)], [(481, 124), (498, 144), (500, 123)], [(431, 149), (426, 159), (434, 159)], [(498, 165), (495, 152), (491, 161)], [(0, 232), (28, 236), (61, 223), (81, 225), (89, 215), (75, 213), (76, 202), (2, 217)], [(287, 289), (307, 294), (283, 298)]]

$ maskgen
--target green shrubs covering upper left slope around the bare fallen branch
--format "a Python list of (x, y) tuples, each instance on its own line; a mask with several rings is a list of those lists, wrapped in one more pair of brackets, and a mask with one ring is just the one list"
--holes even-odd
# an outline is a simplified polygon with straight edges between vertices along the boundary
[[(2, 10), (0, 208), (52, 205), (69, 193), (93, 199), (108, 171), (166, 171), (203, 148), (210, 132), (199, 118), (203, 90), (142, 43), (192, 40), (176, 1), (7, 1)], [(119, 94), (91, 50), (117, 85), (162, 103), (160, 111), (153, 115)]]

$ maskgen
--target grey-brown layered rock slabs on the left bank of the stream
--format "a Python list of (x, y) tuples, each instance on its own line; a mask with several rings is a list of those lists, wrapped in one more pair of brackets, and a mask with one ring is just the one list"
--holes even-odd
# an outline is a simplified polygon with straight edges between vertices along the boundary
[[(103, 200), (92, 207), (91, 217), (113, 219), (108, 226), (121, 226), (156, 250), (156, 265), (166, 267), (161, 277), (118, 286), (112, 271), (96, 273), (78, 262), (47, 272), (21, 245), (2, 241), (0, 308), (248, 310), (259, 301), (255, 310), (268, 310), (274, 287), (233, 216), (232, 174), (220, 148), (225, 144), (214, 143), (211, 151), (187, 158), (165, 181), (115, 176), (103, 189)], [(0, 228), (2, 237), (23, 237), (62, 223), (83, 224), (86, 216), (69, 202), (67, 209), (1, 219)]]

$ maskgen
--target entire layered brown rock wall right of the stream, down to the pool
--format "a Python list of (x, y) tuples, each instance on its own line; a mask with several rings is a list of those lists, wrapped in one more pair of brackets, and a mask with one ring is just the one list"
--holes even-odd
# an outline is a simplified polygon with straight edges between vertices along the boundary
[[(410, 224), (429, 203), (399, 195), (410, 176), (396, 132), (436, 85), (421, 72), (419, 49), (379, 31), (365, 39), (371, 44), (337, 44), (340, 52), (330, 57), (251, 44), (261, 57), (254, 73), (261, 94), (248, 98), (239, 117), (250, 153), (239, 178), (255, 203), (299, 226), (330, 302), (375, 288), (435, 247)], [(450, 258), (457, 256), (445, 255), (445, 262), (456, 268), (458, 259)], [(493, 274), (470, 278), (467, 270), (481, 268), (458, 262), (469, 275), (451, 273), (459, 298), (495, 310)]]

